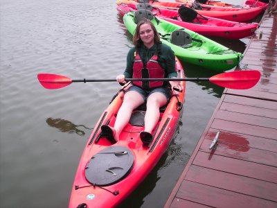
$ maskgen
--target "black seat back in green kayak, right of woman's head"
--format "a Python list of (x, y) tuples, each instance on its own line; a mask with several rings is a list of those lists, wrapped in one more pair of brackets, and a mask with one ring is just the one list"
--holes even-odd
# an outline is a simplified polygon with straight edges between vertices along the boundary
[(190, 34), (181, 30), (173, 31), (171, 33), (171, 43), (185, 49), (193, 46), (193, 40)]

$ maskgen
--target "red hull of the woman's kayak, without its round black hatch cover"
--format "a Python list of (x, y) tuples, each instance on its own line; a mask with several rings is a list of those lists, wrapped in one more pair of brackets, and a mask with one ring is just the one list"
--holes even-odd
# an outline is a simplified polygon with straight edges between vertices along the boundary
[[(179, 60), (177, 60), (177, 70), (179, 77), (184, 78), (184, 70)], [(176, 92), (178, 96), (172, 96), (166, 110), (161, 112), (161, 119), (153, 132), (154, 139), (150, 147), (143, 146), (139, 138), (139, 132), (143, 131), (143, 126), (134, 125), (130, 122), (123, 129), (120, 139), (116, 144), (111, 144), (105, 137), (99, 139), (101, 125), (107, 123), (111, 126), (114, 125), (116, 114), (123, 102), (124, 92), (121, 91), (117, 94), (114, 101), (102, 113), (84, 148), (73, 182), (69, 207), (75, 208), (79, 205), (86, 205), (88, 208), (116, 207), (139, 186), (157, 162), (159, 162), (159, 159), (165, 153), (175, 134), (182, 112), (181, 108), (177, 108), (177, 104), (183, 105), (186, 89), (186, 83), (181, 82), (181, 84), (184, 87), (184, 91)], [(134, 111), (134, 113), (137, 112), (142, 113), (144, 110)], [(127, 148), (134, 155), (134, 164), (131, 170), (120, 181), (114, 184), (102, 187), (97, 184), (91, 184), (87, 180), (86, 175), (87, 165), (91, 159), (101, 150), (120, 146)]]

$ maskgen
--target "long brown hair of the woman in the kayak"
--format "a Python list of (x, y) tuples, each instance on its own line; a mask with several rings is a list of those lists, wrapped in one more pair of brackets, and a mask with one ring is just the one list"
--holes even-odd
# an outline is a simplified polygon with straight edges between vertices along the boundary
[(141, 37), (139, 35), (140, 28), (141, 28), (142, 24), (149, 24), (151, 26), (152, 30), (154, 31), (154, 43), (157, 44), (158, 42), (160, 42), (160, 35), (157, 32), (157, 30), (156, 30), (154, 24), (152, 23), (152, 21), (150, 21), (149, 19), (143, 18), (136, 25), (136, 31), (135, 31), (134, 37), (133, 37), (133, 44), (137, 47), (140, 47), (140, 46), (143, 45), (143, 41), (141, 40)]

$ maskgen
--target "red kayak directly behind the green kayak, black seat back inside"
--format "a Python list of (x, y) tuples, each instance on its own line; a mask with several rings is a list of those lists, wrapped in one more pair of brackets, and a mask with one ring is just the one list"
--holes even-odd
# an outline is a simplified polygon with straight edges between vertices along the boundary
[[(125, 15), (125, 13), (127, 12), (136, 11), (139, 6), (139, 4), (134, 3), (122, 3), (117, 7), (117, 10), (118, 12), (120, 12), (120, 14)], [(197, 14), (196, 17), (194, 19), (190, 19), (190, 21), (182, 21), (177, 10), (168, 10), (162, 8), (156, 9), (152, 8), (150, 4), (142, 6), (149, 6), (149, 8), (152, 9), (152, 12), (161, 19), (165, 19), (166, 21), (170, 21), (173, 24), (177, 24), (201, 35), (210, 35), (229, 39), (240, 39), (248, 37), (255, 33), (259, 26), (258, 23), (239, 23), (236, 21), (228, 21)], [(190, 8), (187, 9), (187, 17), (190, 16), (189, 12), (196, 12), (196, 10), (192, 10)]]

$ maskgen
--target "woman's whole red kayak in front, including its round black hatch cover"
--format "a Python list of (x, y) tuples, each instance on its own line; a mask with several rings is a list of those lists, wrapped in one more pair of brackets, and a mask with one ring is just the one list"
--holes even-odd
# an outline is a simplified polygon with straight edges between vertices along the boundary
[[(176, 60), (176, 68), (179, 78), (184, 78), (179, 60)], [(186, 83), (181, 83), (185, 89)], [(103, 124), (114, 125), (127, 87), (116, 94), (87, 141), (73, 182), (69, 207), (119, 205), (152, 171), (175, 134), (185, 90), (172, 92), (170, 102), (161, 110), (161, 119), (152, 132), (154, 139), (149, 146), (143, 145), (139, 137), (139, 133), (144, 130), (145, 109), (134, 110), (116, 144), (101, 135), (100, 127)]]

